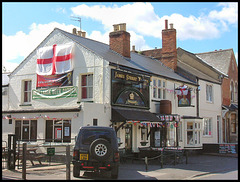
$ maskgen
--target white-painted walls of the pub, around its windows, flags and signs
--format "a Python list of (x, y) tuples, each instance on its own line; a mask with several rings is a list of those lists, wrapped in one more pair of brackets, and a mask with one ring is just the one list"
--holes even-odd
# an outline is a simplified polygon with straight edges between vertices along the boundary
[[(64, 109), (64, 108), (81, 108), (79, 112), (36, 112), (36, 113), (13, 113), (12, 124), (9, 124), (8, 119), (2, 120), (3, 128), (3, 141), (7, 141), (7, 135), (15, 133), (15, 121), (24, 119), (36, 119), (37, 120), (37, 138), (44, 139), (46, 136), (46, 120), (55, 119), (69, 119), (71, 120), (71, 138), (74, 138), (79, 130), (79, 127), (86, 125), (93, 125), (93, 119), (97, 119), (98, 126), (110, 126), (111, 123), (111, 69), (115, 67), (110, 66), (109, 62), (104, 60), (101, 56), (98, 56), (91, 50), (81, 46), (78, 43), (74, 43), (74, 71), (73, 71), (73, 86), (78, 87), (78, 96), (73, 98), (59, 98), (59, 99), (38, 99), (31, 100), (30, 103), (25, 104), (23, 102), (23, 81), (31, 80), (32, 89), (36, 89), (36, 51), (40, 47), (52, 46), (54, 44), (74, 43), (69, 37), (62, 34), (58, 29), (55, 29), (44, 41), (33, 50), (33, 52), (14, 70), (10, 75), (9, 81), (9, 95), (8, 95), (8, 108), (6, 110), (37, 110), (37, 109)], [(93, 99), (82, 100), (81, 99), (81, 75), (93, 74)], [(191, 107), (178, 107), (177, 95), (174, 93), (174, 89), (183, 85), (183, 83), (175, 80), (166, 80), (161, 77), (152, 77), (153, 79), (161, 79), (166, 83), (166, 100), (170, 100), (172, 103), (172, 114), (178, 114), (180, 116), (192, 116), (197, 115), (197, 101), (196, 101), (196, 86), (187, 85), (192, 88), (191, 91)], [(193, 147), (201, 147), (202, 143), (215, 143), (217, 142), (216, 136), (216, 115), (221, 115), (221, 89), (220, 86), (214, 84), (214, 102), (206, 103), (204, 98), (204, 84), (205, 81), (200, 81), (200, 117), (212, 117), (212, 136), (202, 136), (202, 120), (200, 119), (181, 119), (181, 125), (179, 129), (179, 145), (181, 148), (191, 147), (187, 145), (187, 121), (193, 121), (201, 123), (200, 130), (200, 143)], [(153, 83), (150, 84), (150, 112), (158, 113), (159, 104), (155, 102), (153, 98)], [(160, 100), (158, 100), (160, 101)], [(30, 105), (29, 105), (30, 104)], [(118, 124), (120, 125), (120, 124)], [(132, 125), (132, 150), (138, 151), (140, 147), (141, 130), (139, 124)], [(148, 129), (150, 127), (148, 126)], [(123, 143), (121, 147), (125, 146), (125, 129), (120, 129), (118, 137), (121, 138)], [(150, 138), (146, 140), (150, 145)], [(74, 140), (72, 140), (74, 142)]]

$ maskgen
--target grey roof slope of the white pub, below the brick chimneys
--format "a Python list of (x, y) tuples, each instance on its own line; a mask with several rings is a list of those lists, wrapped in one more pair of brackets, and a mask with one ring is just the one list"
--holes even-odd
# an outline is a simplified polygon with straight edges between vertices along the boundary
[(174, 79), (174, 80), (182, 81), (185, 83), (194, 84), (193, 82), (174, 73), (173, 70), (166, 67), (156, 59), (152, 59), (150, 57), (147, 57), (135, 52), (131, 52), (131, 58), (126, 58), (118, 54), (117, 52), (111, 50), (109, 48), (109, 45), (107, 44), (104, 44), (92, 39), (84, 38), (78, 35), (74, 35), (74, 34), (65, 32), (61, 29), (58, 29), (58, 30), (61, 31), (64, 35), (66, 35), (70, 39), (72, 39), (73, 41), (82, 45), (86, 49), (94, 52), (95, 54), (99, 55), (103, 59), (109, 61), (110, 63), (122, 65), (128, 68), (133, 68), (133, 69), (144, 71), (154, 75), (163, 76), (169, 79)]

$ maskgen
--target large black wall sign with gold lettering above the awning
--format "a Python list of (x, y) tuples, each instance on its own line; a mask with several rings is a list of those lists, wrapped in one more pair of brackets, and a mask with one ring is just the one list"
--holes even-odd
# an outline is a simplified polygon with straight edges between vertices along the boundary
[(112, 70), (112, 105), (149, 108), (150, 77)]

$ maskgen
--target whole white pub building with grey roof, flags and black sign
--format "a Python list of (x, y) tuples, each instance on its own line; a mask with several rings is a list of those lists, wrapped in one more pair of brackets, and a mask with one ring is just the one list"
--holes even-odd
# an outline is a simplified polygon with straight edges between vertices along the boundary
[[(10, 75), (8, 97), (15, 99), (8, 99), (3, 111), (4, 140), (15, 133), (19, 140), (68, 144), (74, 143), (79, 127), (97, 125), (114, 127), (126, 152), (139, 152), (140, 147), (201, 147), (198, 85), (160, 61), (130, 51), (126, 24), (113, 27), (109, 45), (79, 36), (76, 30), (55, 28), (33, 50)], [(60, 48), (74, 55), (60, 74), (44, 68), (51, 64), (36, 61), (42, 50), (40, 60)], [(166, 54), (166, 59), (172, 58)], [(185, 96), (186, 105), (180, 103)]]

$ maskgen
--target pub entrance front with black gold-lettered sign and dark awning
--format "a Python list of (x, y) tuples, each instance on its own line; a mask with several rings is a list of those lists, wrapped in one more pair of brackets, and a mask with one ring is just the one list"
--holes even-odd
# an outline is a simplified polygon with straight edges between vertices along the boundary
[(139, 147), (178, 147), (177, 114), (149, 111), (150, 77), (112, 70), (112, 124), (121, 147), (137, 152)]

